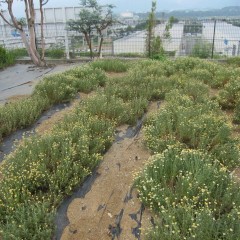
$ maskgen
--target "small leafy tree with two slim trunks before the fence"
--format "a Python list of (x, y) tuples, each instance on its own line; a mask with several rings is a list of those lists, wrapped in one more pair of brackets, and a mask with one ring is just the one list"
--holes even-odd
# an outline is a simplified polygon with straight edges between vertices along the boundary
[(98, 46), (98, 56), (102, 53), (102, 44), (104, 40), (103, 32), (114, 22), (112, 9), (113, 5), (99, 5), (96, 0), (81, 0), (83, 7), (79, 13), (79, 19), (68, 22), (71, 31), (77, 31), (84, 35), (90, 50), (90, 56), (93, 57), (92, 36), (94, 31), (100, 37)]

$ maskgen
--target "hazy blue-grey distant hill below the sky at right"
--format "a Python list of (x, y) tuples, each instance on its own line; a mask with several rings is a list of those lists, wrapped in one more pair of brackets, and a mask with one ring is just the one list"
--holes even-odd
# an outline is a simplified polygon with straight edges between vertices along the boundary
[[(140, 18), (147, 18), (148, 13), (138, 13)], [(171, 12), (157, 12), (157, 18), (211, 18), (211, 17), (239, 17), (240, 6), (224, 7), (222, 9), (211, 10), (176, 10)]]

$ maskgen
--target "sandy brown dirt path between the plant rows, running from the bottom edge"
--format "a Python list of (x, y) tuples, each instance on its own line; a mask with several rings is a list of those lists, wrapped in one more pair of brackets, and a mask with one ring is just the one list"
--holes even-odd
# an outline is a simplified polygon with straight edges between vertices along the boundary
[[(119, 130), (124, 134), (127, 127)], [(61, 239), (139, 239), (140, 228), (148, 225), (150, 214), (132, 190), (133, 173), (143, 167), (149, 156), (141, 134), (115, 142), (105, 154), (91, 190), (70, 204), (70, 224)]]

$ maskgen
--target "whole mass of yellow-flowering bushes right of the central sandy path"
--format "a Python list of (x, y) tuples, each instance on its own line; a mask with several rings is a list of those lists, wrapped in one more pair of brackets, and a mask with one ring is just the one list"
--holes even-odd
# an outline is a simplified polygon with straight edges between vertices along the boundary
[(161, 71), (144, 65), (143, 78), (175, 80), (164, 94), (165, 106), (144, 127), (146, 145), (155, 154), (135, 182), (142, 202), (155, 213), (146, 239), (237, 240), (239, 185), (229, 172), (239, 166), (239, 139), (210, 100), (207, 85), (223, 87), (217, 100), (234, 109), (238, 123), (238, 70), (193, 58), (161, 63)]

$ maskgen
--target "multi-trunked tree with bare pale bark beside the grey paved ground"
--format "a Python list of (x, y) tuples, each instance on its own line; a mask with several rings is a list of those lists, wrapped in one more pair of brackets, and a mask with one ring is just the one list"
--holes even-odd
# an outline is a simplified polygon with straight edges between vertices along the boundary
[[(46, 66), (46, 62), (44, 60), (44, 52), (45, 52), (45, 42), (44, 42), (44, 33), (43, 33), (43, 6), (49, 1), (49, 0), (39, 0), (39, 6), (40, 6), (40, 16), (41, 16), (41, 55), (37, 51), (37, 45), (36, 45), (36, 31), (35, 31), (35, 10), (34, 10), (34, 3), (33, 0), (21, 0), (24, 1), (25, 5), (25, 14), (26, 14), (26, 22), (17, 20), (17, 18), (13, 14), (13, 4), (14, 0), (1, 0), (0, 3), (3, 3), (3, 5), (7, 6), (7, 12), (10, 16), (10, 21), (5, 17), (3, 14), (4, 11), (1, 9), (0, 11), (0, 17), (11, 27), (17, 29), (20, 33), (20, 36), (22, 38), (22, 41), (27, 49), (27, 52), (33, 61), (33, 63), (37, 66)], [(29, 38), (27, 38), (27, 34), (24, 30), (24, 25), (27, 25), (28, 32), (29, 32)]]

